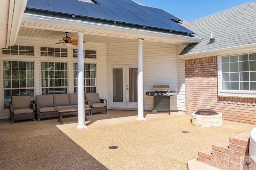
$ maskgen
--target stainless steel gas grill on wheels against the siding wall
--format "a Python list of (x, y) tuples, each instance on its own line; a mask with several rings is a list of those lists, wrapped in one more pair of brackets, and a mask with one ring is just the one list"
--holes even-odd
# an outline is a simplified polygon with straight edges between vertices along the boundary
[(178, 95), (178, 92), (170, 91), (169, 85), (153, 86), (153, 92), (146, 92), (146, 96), (154, 96), (153, 114), (157, 111), (168, 111), (170, 115), (170, 96)]

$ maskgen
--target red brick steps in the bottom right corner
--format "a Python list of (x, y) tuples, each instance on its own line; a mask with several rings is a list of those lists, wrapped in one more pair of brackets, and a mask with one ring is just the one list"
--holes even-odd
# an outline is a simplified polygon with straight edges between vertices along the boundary
[[(240, 170), (249, 156), (250, 131), (230, 137), (212, 145), (212, 148), (198, 151), (198, 161), (221, 170)], [(254, 162), (253, 169), (256, 169)]]

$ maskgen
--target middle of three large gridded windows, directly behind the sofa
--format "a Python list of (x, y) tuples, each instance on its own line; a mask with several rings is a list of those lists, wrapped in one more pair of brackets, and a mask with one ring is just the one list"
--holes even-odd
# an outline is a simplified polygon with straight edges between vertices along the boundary
[(68, 63), (42, 62), (42, 94), (66, 94), (68, 90)]

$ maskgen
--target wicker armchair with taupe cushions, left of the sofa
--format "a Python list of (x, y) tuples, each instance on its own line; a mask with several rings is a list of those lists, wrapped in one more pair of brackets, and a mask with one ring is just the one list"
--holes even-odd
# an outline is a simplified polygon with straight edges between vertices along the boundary
[(12, 96), (10, 102), (10, 121), (13, 123), (18, 120), (36, 118), (36, 106), (30, 100), (30, 96)]

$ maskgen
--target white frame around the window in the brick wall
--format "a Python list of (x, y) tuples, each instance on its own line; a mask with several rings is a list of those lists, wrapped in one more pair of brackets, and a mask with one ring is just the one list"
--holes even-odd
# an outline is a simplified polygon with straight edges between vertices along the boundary
[[(242, 54), (244, 54), (244, 53), (238, 53), (236, 55), (242, 55)], [(223, 89), (223, 87), (222, 87), (222, 56), (228, 56), (228, 55), (218, 55), (218, 96), (239, 97), (239, 98), (256, 98), (256, 91), (222, 90)]]

